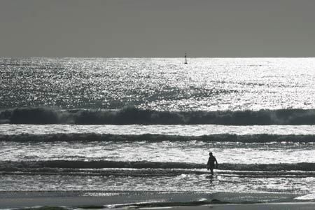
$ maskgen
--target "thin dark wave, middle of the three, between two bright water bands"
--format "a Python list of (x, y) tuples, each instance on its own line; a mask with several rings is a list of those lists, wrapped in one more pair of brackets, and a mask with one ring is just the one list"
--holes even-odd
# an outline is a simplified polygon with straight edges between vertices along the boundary
[(0, 141), (16, 142), (53, 142), (53, 141), (205, 141), (205, 142), (315, 142), (315, 135), (279, 135), (279, 134), (211, 134), (204, 136), (176, 136), (163, 134), (0, 134)]

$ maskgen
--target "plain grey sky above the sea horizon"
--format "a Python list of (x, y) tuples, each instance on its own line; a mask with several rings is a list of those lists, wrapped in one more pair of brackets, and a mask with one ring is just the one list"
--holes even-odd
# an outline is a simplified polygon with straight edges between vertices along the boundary
[(314, 0), (0, 0), (0, 57), (315, 57)]

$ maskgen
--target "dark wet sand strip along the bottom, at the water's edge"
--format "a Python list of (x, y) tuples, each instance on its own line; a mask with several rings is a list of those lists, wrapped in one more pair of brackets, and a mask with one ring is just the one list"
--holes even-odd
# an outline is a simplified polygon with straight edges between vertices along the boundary
[(294, 201), (295, 197), (281, 193), (15, 191), (0, 192), (0, 209), (315, 209), (315, 201)]

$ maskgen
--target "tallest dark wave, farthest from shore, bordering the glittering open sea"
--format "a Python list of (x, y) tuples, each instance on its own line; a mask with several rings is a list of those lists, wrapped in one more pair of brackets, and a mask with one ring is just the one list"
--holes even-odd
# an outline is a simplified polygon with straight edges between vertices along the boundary
[(154, 111), (17, 108), (1, 111), (0, 123), (77, 125), (315, 125), (315, 109), (260, 111)]

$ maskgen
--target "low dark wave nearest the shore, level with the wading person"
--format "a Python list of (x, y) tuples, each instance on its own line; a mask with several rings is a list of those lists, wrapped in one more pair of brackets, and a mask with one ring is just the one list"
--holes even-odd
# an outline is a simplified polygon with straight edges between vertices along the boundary
[[(197, 164), (190, 162), (146, 162), (146, 161), (109, 161), (109, 160), (40, 160), (40, 161), (0, 161), (0, 172), (23, 172), (27, 170), (34, 170), (38, 172), (61, 172), (62, 169), (67, 169), (65, 172), (74, 172), (73, 169), (113, 169), (112, 172), (122, 172), (118, 169), (146, 169), (150, 173), (151, 169), (160, 169), (161, 172), (175, 173), (175, 174), (204, 174), (205, 171), (183, 171), (176, 169), (205, 169), (205, 164)], [(72, 169), (72, 170), (71, 170)], [(149, 169), (149, 170), (148, 170)], [(170, 169), (170, 170), (162, 170)], [(175, 170), (174, 170), (175, 169)], [(314, 162), (299, 162), (299, 163), (276, 163), (276, 164), (232, 164), (222, 163), (219, 165), (220, 170), (228, 170), (230, 174), (251, 173), (257, 175), (254, 172), (274, 172), (281, 174), (296, 174), (297, 172), (286, 171), (303, 171), (303, 172), (315, 172)], [(130, 170), (129, 170), (130, 171)], [(154, 170), (156, 172), (156, 170)], [(82, 171), (84, 172), (84, 171)], [(92, 172), (92, 171), (89, 171)], [(111, 171), (107, 171), (111, 172)], [(143, 171), (144, 172), (144, 171)], [(142, 172), (141, 172), (142, 173)], [(140, 174), (141, 174), (140, 173)], [(314, 176), (315, 174), (312, 173)]]

